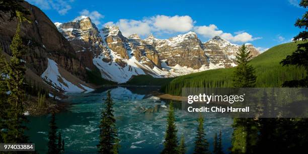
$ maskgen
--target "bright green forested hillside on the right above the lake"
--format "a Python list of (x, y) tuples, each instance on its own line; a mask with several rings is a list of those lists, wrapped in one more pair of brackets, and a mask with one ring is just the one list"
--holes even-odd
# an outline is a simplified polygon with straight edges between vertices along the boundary
[[(279, 63), (290, 55), (300, 43), (285, 43), (270, 48), (250, 61), (256, 68), (257, 87), (281, 87), (284, 81), (302, 79), (303, 68), (283, 66)], [(221, 68), (179, 76), (162, 89), (165, 93), (181, 95), (185, 87), (232, 87), (234, 68)]]

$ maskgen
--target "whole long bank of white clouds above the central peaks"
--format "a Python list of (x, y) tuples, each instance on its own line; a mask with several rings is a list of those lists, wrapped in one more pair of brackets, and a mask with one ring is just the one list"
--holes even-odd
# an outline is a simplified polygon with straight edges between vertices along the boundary
[(189, 16), (164, 16), (157, 15), (153, 17), (146, 17), (143, 20), (128, 20), (120, 19), (118, 22), (108, 22), (105, 25), (117, 25), (124, 36), (131, 34), (138, 34), (140, 36), (146, 36), (150, 33), (157, 34), (173, 34), (184, 33), (188, 31), (195, 31), (197, 34), (205, 38), (213, 38), (214, 36), (220, 36), (231, 42), (249, 42), (261, 37), (253, 37), (251, 34), (245, 31), (225, 33), (219, 30), (216, 25), (210, 24), (208, 26), (194, 26), (196, 22)]

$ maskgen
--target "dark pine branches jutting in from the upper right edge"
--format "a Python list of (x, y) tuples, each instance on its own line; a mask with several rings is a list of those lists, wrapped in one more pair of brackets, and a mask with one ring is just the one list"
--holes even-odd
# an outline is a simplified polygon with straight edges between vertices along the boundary
[[(308, 8), (307, 1), (301, 1), (299, 6), (303, 8)], [(302, 16), (301, 19), (297, 19), (295, 26), (298, 28), (304, 28), (304, 31), (299, 32), (297, 36), (293, 38), (294, 41), (302, 40), (303, 43), (297, 45), (297, 49), (291, 54), (283, 59), (280, 63), (283, 66), (296, 65), (299, 67), (304, 67), (308, 73), (308, 12)], [(308, 87), (308, 76), (301, 80), (286, 81), (282, 85), (283, 87)]]

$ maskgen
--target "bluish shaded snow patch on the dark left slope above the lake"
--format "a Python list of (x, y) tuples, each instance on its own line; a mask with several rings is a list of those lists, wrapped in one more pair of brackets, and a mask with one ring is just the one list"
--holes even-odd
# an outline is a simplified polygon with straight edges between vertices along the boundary
[(52, 60), (48, 59), (48, 66), (46, 70), (42, 73), (41, 78), (47, 82), (47, 84), (51, 84), (52, 87), (61, 89), (65, 92), (74, 92), (74, 93), (81, 93), (85, 91), (93, 91), (93, 89), (86, 87), (82, 84), (84, 89), (79, 88), (78, 86), (72, 84), (71, 82), (67, 81), (65, 78), (63, 78), (59, 72), (58, 64)]

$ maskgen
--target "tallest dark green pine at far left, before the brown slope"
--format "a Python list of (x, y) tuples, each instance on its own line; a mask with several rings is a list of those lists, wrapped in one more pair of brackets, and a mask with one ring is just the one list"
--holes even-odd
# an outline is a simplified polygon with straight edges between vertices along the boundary
[(24, 135), (26, 126), (24, 123), (27, 119), (23, 111), (23, 102), (25, 98), (25, 67), (22, 61), (25, 54), (25, 46), (23, 45), (20, 37), (20, 26), (22, 22), (22, 15), (17, 13), (19, 22), (16, 30), (16, 34), (13, 37), (10, 49), (12, 52), (10, 63), (7, 63), (6, 72), (9, 78), (6, 79), (8, 89), (11, 91), (8, 102), (10, 103), (10, 109), (8, 111), (8, 132), (5, 138), (5, 142), (9, 143), (26, 143), (28, 137)]

